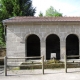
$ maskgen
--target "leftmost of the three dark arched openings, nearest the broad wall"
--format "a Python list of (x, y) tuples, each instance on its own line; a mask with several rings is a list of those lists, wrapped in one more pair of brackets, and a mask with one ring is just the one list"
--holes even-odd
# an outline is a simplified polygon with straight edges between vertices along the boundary
[(26, 40), (26, 56), (40, 56), (40, 39), (37, 35), (30, 35)]

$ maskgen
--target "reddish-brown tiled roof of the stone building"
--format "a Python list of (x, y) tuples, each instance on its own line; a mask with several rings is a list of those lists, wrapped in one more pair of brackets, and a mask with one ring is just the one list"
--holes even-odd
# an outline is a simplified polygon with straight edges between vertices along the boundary
[(64, 22), (64, 21), (80, 21), (80, 17), (12, 17), (3, 20), (3, 23), (17, 22)]

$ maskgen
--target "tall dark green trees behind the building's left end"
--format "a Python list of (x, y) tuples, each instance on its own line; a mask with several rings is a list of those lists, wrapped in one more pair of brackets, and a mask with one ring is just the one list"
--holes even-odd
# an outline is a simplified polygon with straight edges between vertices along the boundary
[(5, 43), (2, 20), (13, 16), (34, 16), (35, 11), (31, 0), (0, 0), (0, 45)]

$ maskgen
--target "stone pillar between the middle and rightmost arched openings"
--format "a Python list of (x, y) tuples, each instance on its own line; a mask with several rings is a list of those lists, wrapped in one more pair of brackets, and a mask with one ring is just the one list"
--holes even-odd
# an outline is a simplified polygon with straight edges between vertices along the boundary
[(64, 55), (66, 55), (66, 39), (60, 40), (60, 59), (64, 59)]

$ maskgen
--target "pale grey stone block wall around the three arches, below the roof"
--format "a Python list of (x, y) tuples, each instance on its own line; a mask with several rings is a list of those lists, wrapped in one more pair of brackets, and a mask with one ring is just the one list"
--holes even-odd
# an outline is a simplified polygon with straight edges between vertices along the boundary
[(80, 24), (9, 24), (7, 26), (7, 56), (25, 57), (25, 40), (30, 34), (36, 34), (40, 38), (41, 55), (44, 55), (45, 59), (46, 37), (56, 34), (60, 38), (60, 57), (64, 59), (66, 37), (69, 34), (75, 34), (80, 40)]

